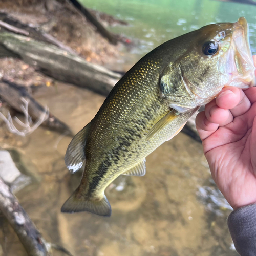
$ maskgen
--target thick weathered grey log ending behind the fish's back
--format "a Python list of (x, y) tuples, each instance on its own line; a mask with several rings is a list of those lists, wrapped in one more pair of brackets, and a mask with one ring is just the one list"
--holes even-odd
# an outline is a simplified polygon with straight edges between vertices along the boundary
[(120, 75), (56, 46), (12, 33), (0, 33), (0, 57), (15, 56), (59, 81), (108, 95)]

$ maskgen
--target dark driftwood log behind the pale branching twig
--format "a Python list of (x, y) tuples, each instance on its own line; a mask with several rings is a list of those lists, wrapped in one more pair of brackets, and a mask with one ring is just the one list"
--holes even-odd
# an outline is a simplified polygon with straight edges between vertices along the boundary
[[(28, 114), (34, 119), (38, 119), (40, 116), (44, 115), (45, 108), (40, 105), (26, 90), (25, 87), (18, 86), (15, 83), (0, 80), (0, 96), (4, 99), (13, 109), (23, 112), (22, 105), (24, 102), (22, 99), (26, 99), (29, 102)], [(72, 135), (69, 127), (59, 121), (55, 116), (49, 113), (49, 117), (42, 123), (51, 129), (57, 130), (58, 132), (66, 132)]]

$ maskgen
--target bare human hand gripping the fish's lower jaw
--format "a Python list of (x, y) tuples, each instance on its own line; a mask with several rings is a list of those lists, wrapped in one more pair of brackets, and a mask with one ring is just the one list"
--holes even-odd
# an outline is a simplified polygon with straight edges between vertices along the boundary
[(256, 203), (256, 88), (225, 87), (197, 115), (196, 126), (211, 175), (229, 204), (237, 209)]

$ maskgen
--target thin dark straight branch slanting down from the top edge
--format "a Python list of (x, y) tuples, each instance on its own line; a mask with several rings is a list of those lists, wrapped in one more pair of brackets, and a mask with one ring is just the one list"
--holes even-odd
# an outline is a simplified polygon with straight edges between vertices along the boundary
[(118, 42), (118, 38), (115, 34), (106, 30), (100, 22), (98, 22), (97, 18), (95, 18), (87, 8), (82, 6), (77, 0), (67, 0), (67, 2), (72, 2), (72, 4), (83, 14), (97, 29), (97, 31), (105, 38), (107, 38), (111, 44), (116, 45)]

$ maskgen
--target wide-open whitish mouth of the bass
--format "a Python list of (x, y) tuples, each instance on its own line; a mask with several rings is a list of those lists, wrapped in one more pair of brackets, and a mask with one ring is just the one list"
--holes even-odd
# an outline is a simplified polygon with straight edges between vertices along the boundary
[(244, 17), (233, 23), (232, 58), (229, 63), (229, 86), (248, 88), (256, 86), (255, 67), (251, 55), (248, 24)]

